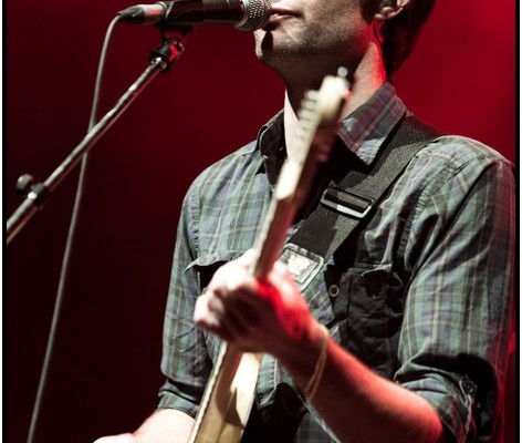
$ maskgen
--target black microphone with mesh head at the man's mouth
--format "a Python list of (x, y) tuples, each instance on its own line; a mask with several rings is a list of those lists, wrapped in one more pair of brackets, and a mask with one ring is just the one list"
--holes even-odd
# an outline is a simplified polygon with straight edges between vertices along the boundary
[(136, 4), (119, 11), (130, 24), (232, 24), (241, 31), (263, 28), (272, 13), (272, 0), (174, 0)]

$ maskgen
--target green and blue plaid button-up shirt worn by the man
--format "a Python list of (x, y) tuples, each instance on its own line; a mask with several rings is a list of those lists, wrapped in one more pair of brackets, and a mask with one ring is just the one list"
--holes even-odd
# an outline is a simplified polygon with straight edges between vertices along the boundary
[[(394, 87), (384, 84), (340, 126), (345, 157), (333, 163), (370, 164), (405, 113)], [(218, 266), (254, 245), (284, 159), (282, 134), (280, 113), (255, 142), (206, 169), (186, 196), (159, 408), (197, 412), (219, 342), (195, 327), (195, 300)], [(455, 441), (486, 441), (500, 429), (513, 248), (512, 165), (479, 142), (442, 136), (414, 157), (380, 202), (353, 257), (336, 255), (303, 295), (337, 342), (424, 396)], [(265, 356), (257, 409), (269, 409), (282, 384), (294, 385)], [(335, 441), (309, 408), (294, 441)]]

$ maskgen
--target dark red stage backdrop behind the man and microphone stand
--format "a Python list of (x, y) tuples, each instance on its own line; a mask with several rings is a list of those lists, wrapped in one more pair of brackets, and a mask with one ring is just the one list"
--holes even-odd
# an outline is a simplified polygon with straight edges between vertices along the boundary
[[(17, 177), (44, 181), (83, 138), (105, 29), (128, 1), (8, 1), (6, 217)], [(102, 112), (144, 71), (154, 28), (118, 25)], [(514, 161), (515, 2), (440, 0), (396, 86), (418, 116)], [(36, 443), (91, 442), (156, 405), (163, 310), (184, 193), (255, 136), (283, 87), (252, 35), (201, 27), (91, 153)], [(24, 442), (50, 328), (77, 173), (7, 247), (4, 425)], [(509, 392), (514, 418), (514, 392)], [(510, 433), (513, 435), (514, 430)]]

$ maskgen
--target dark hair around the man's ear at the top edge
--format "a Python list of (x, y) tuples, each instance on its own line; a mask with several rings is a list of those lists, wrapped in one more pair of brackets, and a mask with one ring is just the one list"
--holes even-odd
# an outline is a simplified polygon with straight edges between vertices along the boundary
[[(363, 18), (372, 22), (383, 6), (395, 4), (396, 0), (358, 0)], [(411, 53), (420, 29), (434, 9), (435, 0), (410, 0), (396, 17), (385, 20), (377, 35), (383, 50), (386, 74), (392, 78)]]

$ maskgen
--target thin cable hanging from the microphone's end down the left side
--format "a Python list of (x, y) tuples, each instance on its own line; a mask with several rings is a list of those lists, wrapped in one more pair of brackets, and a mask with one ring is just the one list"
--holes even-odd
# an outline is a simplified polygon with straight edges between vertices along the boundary
[[(98, 70), (96, 74), (96, 82), (94, 86), (94, 97), (93, 97), (93, 104), (91, 107), (91, 117), (88, 122), (88, 131), (96, 124), (97, 120), (97, 107), (98, 107), (98, 100), (100, 100), (100, 91), (102, 87), (102, 78), (103, 78), (103, 71), (105, 68), (105, 59), (106, 59), (106, 53), (107, 53), (107, 48), (108, 43), (111, 41), (111, 37), (114, 30), (114, 27), (118, 22), (119, 17), (115, 17), (111, 24), (107, 28), (107, 32), (105, 34), (105, 40), (103, 43), (102, 48), (102, 53), (100, 55), (100, 63), (98, 63)], [(87, 132), (88, 132), (87, 131)], [(36, 430), (36, 424), (38, 424), (38, 419), (40, 415), (40, 406), (42, 403), (43, 399), (43, 393), (45, 390), (45, 384), (49, 375), (49, 367), (51, 363), (51, 358), (53, 353), (53, 348), (54, 348), (54, 342), (55, 342), (55, 337), (56, 337), (56, 329), (58, 329), (58, 323), (60, 319), (60, 313), (62, 310), (62, 301), (63, 301), (63, 292), (65, 289), (65, 281), (66, 281), (66, 276), (69, 271), (69, 265), (70, 265), (70, 258), (71, 258), (71, 250), (73, 247), (73, 240), (74, 236), (76, 233), (76, 226), (77, 226), (77, 217), (80, 213), (80, 207), (82, 203), (82, 197), (83, 197), (83, 192), (85, 187), (85, 174), (86, 174), (86, 168), (87, 168), (87, 162), (88, 162), (88, 153), (83, 154), (82, 157), (82, 164), (80, 167), (80, 176), (79, 176), (79, 182), (76, 185), (76, 195), (74, 199), (74, 205), (73, 205), (73, 210), (71, 215), (71, 223), (69, 225), (69, 233), (67, 233), (67, 238), (65, 243), (65, 250), (63, 253), (63, 258), (62, 258), (62, 267), (60, 270), (60, 278), (59, 278), (59, 285), (58, 285), (58, 290), (56, 290), (56, 298), (54, 301), (54, 311), (53, 311), (53, 318), (51, 322), (51, 329), (49, 331), (49, 338), (48, 338), (48, 346), (45, 349), (45, 356), (43, 359), (43, 364), (42, 364), (42, 371), (40, 373), (40, 382), (38, 385), (38, 391), (36, 391), (36, 398), (34, 401), (34, 406), (33, 406), (33, 412), (31, 416), (31, 423), (29, 426), (29, 434), (28, 434), (28, 443), (32, 443), (34, 439), (34, 433)]]

